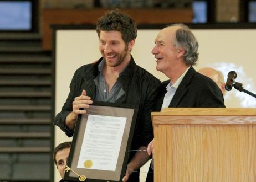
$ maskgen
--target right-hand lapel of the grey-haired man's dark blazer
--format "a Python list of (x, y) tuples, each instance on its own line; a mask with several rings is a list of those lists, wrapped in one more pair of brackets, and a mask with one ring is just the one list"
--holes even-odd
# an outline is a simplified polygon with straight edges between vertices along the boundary
[(187, 92), (187, 85), (191, 82), (191, 79), (193, 78), (194, 74), (196, 74), (196, 70), (191, 66), (190, 69), (188, 69), (187, 73), (185, 74), (184, 78), (182, 79), (175, 94), (173, 95), (169, 108), (178, 107), (178, 104), (180, 103), (183, 95), (185, 95)]

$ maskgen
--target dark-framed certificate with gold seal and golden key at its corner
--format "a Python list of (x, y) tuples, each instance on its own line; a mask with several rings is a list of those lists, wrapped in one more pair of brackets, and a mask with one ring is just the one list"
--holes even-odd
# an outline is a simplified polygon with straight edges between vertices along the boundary
[(65, 180), (122, 181), (138, 107), (94, 102), (76, 121)]

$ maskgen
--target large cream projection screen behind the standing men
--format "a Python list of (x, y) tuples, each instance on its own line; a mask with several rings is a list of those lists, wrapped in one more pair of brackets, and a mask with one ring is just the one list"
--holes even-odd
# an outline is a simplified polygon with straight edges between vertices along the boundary
[[(159, 29), (139, 29), (132, 56), (137, 65), (151, 72), (161, 81), (167, 77), (157, 72), (156, 60), (151, 54)], [(235, 81), (243, 83), (245, 89), (256, 93), (256, 29), (193, 29), (199, 42), (199, 61), (195, 68), (212, 67), (224, 74), (237, 72)], [(69, 93), (69, 84), (77, 68), (98, 60), (98, 36), (95, 30), (76, 29), (73, 26), (55, 31), (55, 114), (63, 106)], [(234, 88), (224, 97), (228, 108), (250, 108), (256, 106), (256, 99)], [(71, 138), (55, 127), (55, 146)], [(145, 169), (147, 170), (147, 167)], [(145, 178), (146, 173), (141, 173)], [(60, 176), (55, 170), (55, 181)]]

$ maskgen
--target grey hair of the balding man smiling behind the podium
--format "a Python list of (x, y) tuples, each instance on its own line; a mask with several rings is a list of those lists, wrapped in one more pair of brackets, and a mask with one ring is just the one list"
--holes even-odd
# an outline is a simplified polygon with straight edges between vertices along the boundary
[(185, 49), (185, 54), (183, 55), (186, 65), (195, 65), (198, 60), (198, 42), (196, 37), (193, 35), (190, 28), (182, 23), (172, 24), (170, 26), (179, 26), (180, 28), (176, 30), (174, 45), (175, 47), (182, 47)]

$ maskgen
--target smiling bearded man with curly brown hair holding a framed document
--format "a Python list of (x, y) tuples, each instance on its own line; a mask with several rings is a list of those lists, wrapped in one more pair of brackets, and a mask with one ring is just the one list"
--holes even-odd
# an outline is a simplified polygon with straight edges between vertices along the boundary
[[(99, 18), (96, 31), (102, 57), (98, 62), (81, 66), (70, 83), (70, 92), (54, 124), (73, 136), (79, 114), (86, 113), (93, 101), (139, 105), (131, 149), (145, 150), (153, 138), (150, 113), (160, 81), (136, 65), (131, 56), (137, 28), (135, 21), (119, 10)], [(93, 60), (92, 60), (93, 61)], [(80, 110), (85, 109), (85, 110)], [(139, 181), (133, 173), (147, 162), (147, 152), (130, 153), (124, 181)]]

